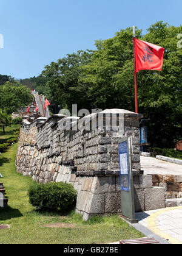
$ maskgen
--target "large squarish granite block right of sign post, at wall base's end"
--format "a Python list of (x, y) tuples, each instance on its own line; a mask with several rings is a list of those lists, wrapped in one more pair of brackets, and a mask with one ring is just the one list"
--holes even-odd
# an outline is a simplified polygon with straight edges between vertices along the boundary
[(165, 207), (163, 188), (146, 188), (144, 190), (144, 197), (146, 211), (157, 210)]

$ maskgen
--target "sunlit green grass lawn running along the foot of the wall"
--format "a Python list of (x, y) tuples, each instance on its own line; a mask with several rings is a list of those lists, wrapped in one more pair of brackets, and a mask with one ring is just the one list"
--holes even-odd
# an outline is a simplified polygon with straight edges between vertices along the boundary
[[(12, 136), (10, 127), (0, 138)], [(61, 216), (53, 213), (39, 213), (29, 204), (27, 190), (33, 183), (30, 177), (16, 172), (15, 156), (18, 143), (12, 145), (0, 158), (5, 161), (0, 166), (8, 207), (0, 208), (0, 224), (10, 225), (10, 229), (0, 230), (0, 244), (90, 244), (112, 243), (127, 238), (143, 237), (140, 232), (130, 227), (118, 215), (93, 217), (84, 222), (74, 211)], [(64, 228), (44, 227), (47, 224), (63, 223)], [(72, 224), (69, 226), (69, 224)]]

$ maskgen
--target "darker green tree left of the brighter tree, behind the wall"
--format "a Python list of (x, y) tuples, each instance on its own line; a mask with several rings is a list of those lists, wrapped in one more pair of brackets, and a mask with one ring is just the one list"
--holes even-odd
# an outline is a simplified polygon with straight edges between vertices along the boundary
[(72, 110), (72, 104), (88, 107), (87, 85), (79, 83), (78, 79), (80, 66), (89, 63), (91, 55), (90, 51), (78, 51), (45, 66), (42, 75), (47, 79), (47, 96), (52, 105), (69, 110)]

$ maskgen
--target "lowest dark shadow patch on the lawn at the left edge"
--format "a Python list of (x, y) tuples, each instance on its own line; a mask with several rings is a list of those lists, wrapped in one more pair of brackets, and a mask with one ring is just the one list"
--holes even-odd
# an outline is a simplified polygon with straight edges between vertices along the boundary
[(0, 221), (7, 221), (8, 219), (20, 218), (22, 216), (22, 213), (18, 209), (13, 209), (10, 206), (0, 208)]

